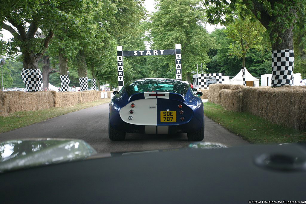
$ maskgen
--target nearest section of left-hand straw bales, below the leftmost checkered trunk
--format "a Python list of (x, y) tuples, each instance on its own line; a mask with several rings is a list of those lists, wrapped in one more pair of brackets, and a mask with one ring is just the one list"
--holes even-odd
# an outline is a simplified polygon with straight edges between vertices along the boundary
[(0, 115), (17, 111), (43, 110), (54, 107), (55, 91), (0, 91)]

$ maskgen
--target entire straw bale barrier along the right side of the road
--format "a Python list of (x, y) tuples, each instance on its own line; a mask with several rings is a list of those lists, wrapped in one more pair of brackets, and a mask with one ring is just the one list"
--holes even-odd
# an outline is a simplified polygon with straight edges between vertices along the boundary
[(306, 87), (244, 87), (231, 84), (211, 84), (209, 101), (224, 109), (245, 111), (274, 124), (306, 129)]

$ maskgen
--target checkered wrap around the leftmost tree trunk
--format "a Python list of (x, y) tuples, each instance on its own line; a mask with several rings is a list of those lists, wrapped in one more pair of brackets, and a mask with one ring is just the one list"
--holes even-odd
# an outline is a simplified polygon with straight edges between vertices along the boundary
[(27, 91), (42, 91), (43, 73), (39, 69), (22, 69), (21, 77)]

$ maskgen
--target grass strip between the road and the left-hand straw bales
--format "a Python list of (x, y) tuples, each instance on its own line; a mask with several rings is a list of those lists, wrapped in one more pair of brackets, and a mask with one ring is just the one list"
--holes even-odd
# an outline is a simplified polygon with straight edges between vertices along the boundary
[(0, 133), (108, 102), (110, 102), (110, 99), (105, 98), (99, 101), (77, 104), (75, 106), (50, 108), (36, 111), (20, 111), (11, 113), (7, 116), (0, 116)]

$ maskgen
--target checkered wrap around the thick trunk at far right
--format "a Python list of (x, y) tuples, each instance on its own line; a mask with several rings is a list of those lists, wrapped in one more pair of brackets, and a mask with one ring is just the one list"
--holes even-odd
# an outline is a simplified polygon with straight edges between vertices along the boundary
[(293, 50), (273, 50), (271, 87), (291, 85), (294, 67)]

